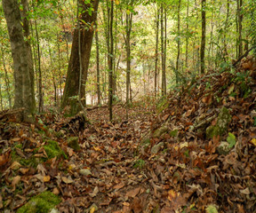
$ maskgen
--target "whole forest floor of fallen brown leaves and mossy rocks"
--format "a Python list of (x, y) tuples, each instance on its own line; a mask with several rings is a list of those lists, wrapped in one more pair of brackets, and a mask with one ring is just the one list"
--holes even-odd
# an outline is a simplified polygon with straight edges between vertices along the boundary
[(107, 107), (36, 124), (2, 112), (0, 211), (256, 212), (255, 69), (246, 59), (145, 97), (129, 120), (122, 105), (113, 122)]

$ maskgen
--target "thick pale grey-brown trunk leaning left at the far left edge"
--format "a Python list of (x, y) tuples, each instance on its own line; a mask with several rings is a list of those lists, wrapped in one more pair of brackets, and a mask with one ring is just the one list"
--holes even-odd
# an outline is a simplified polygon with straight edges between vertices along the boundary
[(20, 120), (33, 121), (35, 110), (34, 91), (29, 74), (28, 61), (31, 61), (24, 41), (23, 28), (21, 26), (20, 9), (17, 0), (2, 0), (4, 16), (12, 47), (12, 59), (14, 67), (15, 95), (14, 108), (24, 107), (24, 113)]

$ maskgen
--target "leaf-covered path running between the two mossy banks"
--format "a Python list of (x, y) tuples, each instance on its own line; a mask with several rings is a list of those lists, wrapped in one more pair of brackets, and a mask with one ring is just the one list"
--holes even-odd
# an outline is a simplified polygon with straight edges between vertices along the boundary
[(83, 149), (74, 154), (73, 163), (76, 171), (88, 169), (92, 174), (74, 179), (79, 196), (72, 194), (60, 204), (60, 211), (90, 212), (94, 203), (97, 212), (150, 212), (145, 208), (148, 202), (154, 202), (148, 196), (152, 189), (146, 162), (139, 158), (138, 143), (150, 129), (154, 114), (142, 106), (129, 111), (126, 121), (124, 107), (115, 106), (113, 123), (108, 122), (107, 108), (89, 111), (88, 118), (96, 122), (80, 136)]

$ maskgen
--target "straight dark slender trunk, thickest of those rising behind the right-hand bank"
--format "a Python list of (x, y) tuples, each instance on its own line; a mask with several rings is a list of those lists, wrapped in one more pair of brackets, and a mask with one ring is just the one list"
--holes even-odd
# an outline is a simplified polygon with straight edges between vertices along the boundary
[(200, 50), (200, 59), (201, 59), (201, 74), (204, 74), (205, 63), (204, 63), (204, 51), (205, 51), (205, 33), (206, 33), (206, 17), (205, 17), (205, 4), (206, 0), (202, 0), (202, 39), (201, 39), (201, 50)]

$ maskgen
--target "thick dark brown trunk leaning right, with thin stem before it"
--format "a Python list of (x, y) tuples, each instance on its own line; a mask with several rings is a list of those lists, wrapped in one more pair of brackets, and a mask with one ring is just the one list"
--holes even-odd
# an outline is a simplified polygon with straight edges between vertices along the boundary
[[(89, 8), (91, 8), (91, 4), (93, 6), (92, 15), (88, 13)], [(80, 81), (80, 60), (79, 60), (79, 45), (81, 46), (81, 61), (82, 61), (82, 79), (81, 79), (81, 98), (85, 98), (85, 88), (84, 85), (87, 80), (87, 73), (91, 55), (92, 48), (92, 37), (93, 37), (93, 23), (97, 18), (97, 10), (99, 5), (99, 0), (91, 1), (91, 4), (84, 4), (83, 0), (79, 0), (79, 5), (82, 7), (82, 14), (80, 19), (85, 23), (89, 24), (89, 27), (84, 23), (81, 23), (80, 28), (76, 28), (74, 31), (73, 43), (71, 48), (71, 55), (68, 62), (68, 75), (66, 80), (66, 85), (64, 88), (63, 99), (61, 102), (61, 109), (63, 110), (66, 106), (70, 106), (68, 110), (69, 114), (76, 114), (79, 112), (82, 107), (78, 103), (77, 95), (79, 93), (79, 81)], [(82, 21), (81, 21), (82, 22)], [(80, 30), (80, 43), (78, 43)], [(72, 99), (72, 97), (76, 97)], [(71, 98), (71, 99), (70, 99)], [(79, 97), (78, 97), (79, 99)]]

